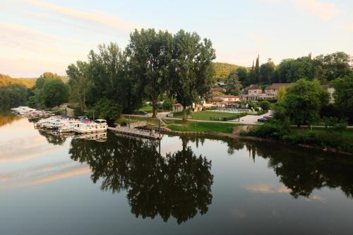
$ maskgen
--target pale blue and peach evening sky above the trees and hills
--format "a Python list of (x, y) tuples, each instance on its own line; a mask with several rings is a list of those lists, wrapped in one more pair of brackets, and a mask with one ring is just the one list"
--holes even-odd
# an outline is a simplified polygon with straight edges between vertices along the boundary
[(343, 51), (353, 55), (352, 0), (0, 0), (0, 73), (66, 74), (98, 44), (124, 48), (135, 28), (197, 32), (215, 61), (251, 66)]

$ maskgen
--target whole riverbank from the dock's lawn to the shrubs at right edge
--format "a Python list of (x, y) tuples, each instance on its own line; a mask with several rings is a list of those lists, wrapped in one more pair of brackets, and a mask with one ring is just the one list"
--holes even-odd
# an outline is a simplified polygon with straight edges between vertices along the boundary
[[(131, 116), (130, 121), (145, 121), (150, 129), (158, 129), (159, 119)], [(122, 120), (122, 122), (126, 122)], [(353, 155), (353, 130), (346, 129), (340, 133), (324, 128), (294, 128), (284, 132), (278, 127), (263, 128), (268, 125), (244, 125), (225, 121), (182, 121), (180, 119), (162, 119), (161, 131), (174, 135), (207, 135), (233, 139), (253, 140), (268, 143), (282, 143), (310, 147), (325, 152), (338, 152)], [(255, 130), (261, 130), (256, 132)]]

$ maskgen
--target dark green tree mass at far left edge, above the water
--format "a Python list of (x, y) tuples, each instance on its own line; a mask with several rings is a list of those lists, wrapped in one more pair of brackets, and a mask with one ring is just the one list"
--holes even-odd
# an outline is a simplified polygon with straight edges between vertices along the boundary
[(9, 111), (13, 107), (25, 105), (28, 97), (28, 89), (24, 85), (10, 84), (0, 87), (0, 112)]

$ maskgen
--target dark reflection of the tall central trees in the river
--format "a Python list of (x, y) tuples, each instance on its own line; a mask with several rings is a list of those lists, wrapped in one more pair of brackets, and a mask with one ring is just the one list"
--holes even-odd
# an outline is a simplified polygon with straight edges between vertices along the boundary
[(180, 224), (205, 214), (212, 203), (211, 162), (194, 155), (191, 147), (162, 157), (153, 141), (109, 133), (105, 143), (73, 139), (69, 153), (90, 164), (91, 179), (101, 180), (102, 190), (127, 191), (136, 217), (160, 215), (167, 222), (172, 216)]

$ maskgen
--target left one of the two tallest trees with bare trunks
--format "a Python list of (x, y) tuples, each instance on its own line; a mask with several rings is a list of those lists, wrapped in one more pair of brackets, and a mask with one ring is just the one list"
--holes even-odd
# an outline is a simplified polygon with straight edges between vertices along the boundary
[(152, 103), (152, 117), (156, 116), (158, 97), (169, 88), (172, 41), (173, 36), (167, 31), (142, 29), (131, 33), (126, 47), (129, 68)]

